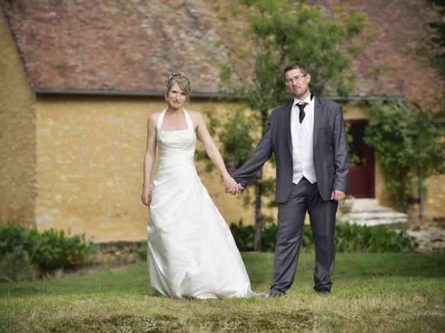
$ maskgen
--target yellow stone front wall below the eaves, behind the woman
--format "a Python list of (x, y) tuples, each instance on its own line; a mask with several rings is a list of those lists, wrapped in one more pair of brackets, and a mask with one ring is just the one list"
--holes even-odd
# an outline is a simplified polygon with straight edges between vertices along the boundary
[[(201, 111), (208, 101), (192, 101)], [(227, 105), (211, 103), (221, 114)], [(39, 228), (62, 228), (94, 241), (143, 240), (148, 210), (140, 203), (146, 125), (160, 98), (42, 96), (37, 113)], [(239, 196), (223, 193), (217, 172), (198, 172), (227, 223), (253, 222)], [(266, 212), (267, 214), (267, 212)]]

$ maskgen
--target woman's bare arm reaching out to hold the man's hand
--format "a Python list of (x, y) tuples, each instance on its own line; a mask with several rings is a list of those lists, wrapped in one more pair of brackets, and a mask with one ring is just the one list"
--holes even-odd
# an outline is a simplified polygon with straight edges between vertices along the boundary
[(207, 129), (204, 117), (202, 117), (202, 114), (200, 114), (199, 112), (193, 112), (193, 120), (196, 124), (196, 133), (200, 137), (200, 140), (204, 145), (207, 156), (209, 156), (211, 162), (215, 164), (216, 168), (218, 169), (218, 171), (220, 171), (220, 174), (223, 177), (226, 191), (236, 189), (236, 191), (233, 191), (233, 193), (239, 193), (242, 189), (241, 185), (238, 186), (236, 181), (227, 172), (223, 157), (221, 156), (220, 151), (218, 151), (218, 148), (216, 148), (213, 139), (211, 139), (211, 135), (209, 133), (209, 130)]

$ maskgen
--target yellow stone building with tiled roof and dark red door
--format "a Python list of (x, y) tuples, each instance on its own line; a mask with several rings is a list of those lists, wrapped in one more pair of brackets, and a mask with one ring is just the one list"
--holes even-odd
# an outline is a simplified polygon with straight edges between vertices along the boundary
[[(332, 15), (340, 1), (309, 2)], [(369, 101), (428, 103), (443, 87), (410, 54), (435, 12), (421, 0), (341, 4), (362, 11), (375, 34), (353, 67), (354, 93), (337, 101), (357, 135), (355, 147), (367, 157), (351, 169), (352, 194), (379, 199), (385, 180), (372, 148), (360, 141)], [(215, 46), (221, 26), (212, 6), (204, 0), (0, 0), (0, 222), (60, 228), (95, 241), (145, 239), (146, 121), (164, 108), (165, 78), (172, 71), (190, 74), (193, 110), (211, 106), (223, 117), (236, 105), (218, 100), (216, 60), (225, 50)], [(382, 64), (387, 70), (373, 76)], [(216, 173), (199, 163), (198, 169), (226, 221), (252, 223), (253, 210), (223, 194)], [(427, 184), (426, 216), (444, 217), (445, 176)]]

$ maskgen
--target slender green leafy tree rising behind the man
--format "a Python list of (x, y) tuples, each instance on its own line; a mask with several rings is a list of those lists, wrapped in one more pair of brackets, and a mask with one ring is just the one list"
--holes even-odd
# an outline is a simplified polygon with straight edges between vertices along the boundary
[[(364, 29), (364, 18), (359, 13), (348, 14), (337, 8), (333, 17), (327, 18), (321, 10), (307, 6), (304, 1), (289, 0), (238, 0), (228, 4), (225, 1), (214, 9), (226, 27), (218, 45), (227, 52), (220, 71), (222, 90), (247, 103), (250, 114), (244, 111), (243, 117), (249, 117), (255, 124), (249, 137), (264, 133), (270, 110), (289, 98), (282, 69), (293, 60), (304, 62), (309, 69), (311, 91), (315, 94), (336, 92), (346, 96), (352, 89), (354, 75), (349, 69), (361, 51), (352, 41)], [(230, 17), (224, 12), (229, 12)], [(223, 155), (230, 151), (230, 145), (236, 146), (233, 134), (220, 135)], [(240, 164), (248, 153), (250, 151), (245, 151), (239, 157)], [(270, 182), (264, 181), (259, 171), (252, 185), (254, 250), (260, 250), (261, 197), (266, 187), (270, 188)]]

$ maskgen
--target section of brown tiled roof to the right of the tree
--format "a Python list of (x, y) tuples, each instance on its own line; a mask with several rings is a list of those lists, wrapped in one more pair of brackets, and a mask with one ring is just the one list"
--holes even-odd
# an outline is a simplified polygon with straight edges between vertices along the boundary
[[(425, 60), (414, 51), (427, 35), (427, 22), (436, 13), (423, 0), (321, 0), (324, 12), (341, 4), (359, 10), (365, 17), (366, 32), (375, 35), (355, 62), (355, 94), (359, 96), (406, 96), (431, 99), (443, 83)], [(375, 73), (380, 71), (378, 76)]]

